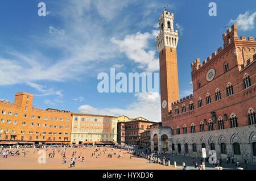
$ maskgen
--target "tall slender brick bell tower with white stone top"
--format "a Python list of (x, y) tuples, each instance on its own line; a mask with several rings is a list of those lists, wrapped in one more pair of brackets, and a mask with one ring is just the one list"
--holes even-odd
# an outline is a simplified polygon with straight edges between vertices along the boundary
[(159, 18), (160, 33), (156, 37), (160, 65), (160, 93), (162, 117), (171, 111), (172, 102), (179, 99), (176, 47), (179, 40), (174, 31), (174, 14), (164, 10)]

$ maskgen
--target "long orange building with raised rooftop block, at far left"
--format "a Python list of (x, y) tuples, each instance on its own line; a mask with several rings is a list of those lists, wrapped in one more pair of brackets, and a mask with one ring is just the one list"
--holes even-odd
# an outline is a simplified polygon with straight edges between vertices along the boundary
[(33, 98), (19, 92), (0, 102), (0, 144), (69, 144), (72, 113), (33, 107)]

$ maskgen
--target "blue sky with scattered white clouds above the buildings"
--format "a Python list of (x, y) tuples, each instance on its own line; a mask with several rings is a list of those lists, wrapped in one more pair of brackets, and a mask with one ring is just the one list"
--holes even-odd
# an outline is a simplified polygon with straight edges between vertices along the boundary
[[(38, 3), (47, 16), (38, 16)], [(210, 2), (217, 16), (209, 16)], [(1, 1), (0, 99), (15, 92), (35, 95), (39, 108), (143, 116), (160, 121), (160, 97), (152, 93), (97, 91), (97, 75), (158, 72), (156, 24), (163, 7), (175, 15), (180, 97), (192, 94), (191, 62), (222, 46), (222, 33), (237, 23), (254, 36), (256, 6), (247, 1)]]

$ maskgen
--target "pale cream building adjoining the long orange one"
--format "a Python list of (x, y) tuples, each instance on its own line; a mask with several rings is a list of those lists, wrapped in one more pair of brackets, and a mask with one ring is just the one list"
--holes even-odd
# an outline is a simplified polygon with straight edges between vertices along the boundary
[(72, 114), (72, 144), (110, 145), (117, 143), (117, 117)]

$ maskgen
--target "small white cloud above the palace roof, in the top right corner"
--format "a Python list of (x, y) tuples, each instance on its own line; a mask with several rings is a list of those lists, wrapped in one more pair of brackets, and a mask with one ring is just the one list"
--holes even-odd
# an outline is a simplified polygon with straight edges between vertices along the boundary
[(238, 29), (241, 31), (249, 31), (254, 29), (254, 19), (256, 16), (256, 11), (250, 15), (249, 11), (246, 11), (245, 14), (238, 15), (236, 20), (230, 20), (229, 25), (237, 24)]

